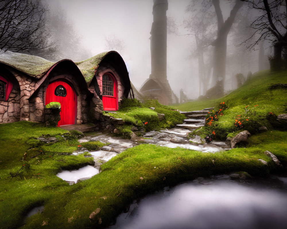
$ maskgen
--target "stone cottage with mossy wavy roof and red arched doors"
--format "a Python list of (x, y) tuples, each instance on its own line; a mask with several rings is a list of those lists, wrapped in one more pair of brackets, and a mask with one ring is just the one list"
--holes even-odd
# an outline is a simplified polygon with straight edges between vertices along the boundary
[(88, 123), (103, 110), (118, 110), (123, 98), (133, 96), (130, 90), (125, 62), (115, 51), (76, 63), (0, 55), (0, 123), (45, 122), (50, 102), (61, 103), (59, 126)]

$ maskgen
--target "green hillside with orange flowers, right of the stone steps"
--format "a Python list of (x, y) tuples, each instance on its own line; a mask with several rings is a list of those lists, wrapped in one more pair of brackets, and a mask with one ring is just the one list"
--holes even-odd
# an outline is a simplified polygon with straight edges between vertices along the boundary
[[(210, 117), (218, 121), (210, 123), (196, 133), (215, 133), (214, 137), (219, 140), (233, 137), (243, 130), (248, 130), (251, 134), (263, 132), (266, 128), (286, 130), (286, 123), (277, 121), (276, 118), (287, 113), (287, 72), (261, 71), (254, 74), (243, 86), (220, 99), (187, 102), (173, 107), (180, 110), (215, 107)], [(219, 110), (222, 116), (218, 115)], [(207, 123), (210, 120), (211, 118)]]

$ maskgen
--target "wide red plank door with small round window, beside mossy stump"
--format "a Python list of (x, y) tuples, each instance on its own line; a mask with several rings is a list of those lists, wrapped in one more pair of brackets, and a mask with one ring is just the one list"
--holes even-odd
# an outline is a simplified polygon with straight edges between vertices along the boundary
[(58, 126), (75, 124), (77, 95), (69, 84), (61, 80), (49, 84), (46, 90), (45, 105), (50, 102), (61, 103), (61, 120), (58, 122)]

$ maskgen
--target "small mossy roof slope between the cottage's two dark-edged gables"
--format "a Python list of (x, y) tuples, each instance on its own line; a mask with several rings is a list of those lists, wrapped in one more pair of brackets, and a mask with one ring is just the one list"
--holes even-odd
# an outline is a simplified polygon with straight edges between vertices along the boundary
[(108, 53), (109, 52), (102, 52), (102, 53), (100, 53), (96, 56), (93, 56), (87, 60), (75, 62), (75, 64), (78, 66), (79, 70), (82, 72), (86, 82), (90, 82), (93, 79), (100, 62), (104, 59), (104, 57)]

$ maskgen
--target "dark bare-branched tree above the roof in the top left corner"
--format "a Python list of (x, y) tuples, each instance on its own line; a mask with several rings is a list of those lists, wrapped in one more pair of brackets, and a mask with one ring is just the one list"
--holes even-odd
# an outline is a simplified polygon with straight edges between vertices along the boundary
[(33, 0), (0, 1), (0, 49), (13, 52), (41, 50), (47, 42), (45, 7)]

